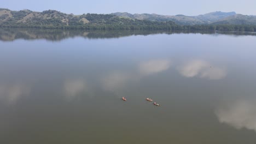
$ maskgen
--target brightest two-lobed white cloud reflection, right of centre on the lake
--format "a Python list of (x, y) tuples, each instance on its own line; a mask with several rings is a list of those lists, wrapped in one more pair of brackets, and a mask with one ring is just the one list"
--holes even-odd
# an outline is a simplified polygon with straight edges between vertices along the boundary
[(210, 80), (223, 79), (226, 76), (226, 70), (224, 68), (216, 67), (201, 59), (185, 63), (178, 68), (178, 71), (185, 77), (198, 76)]

